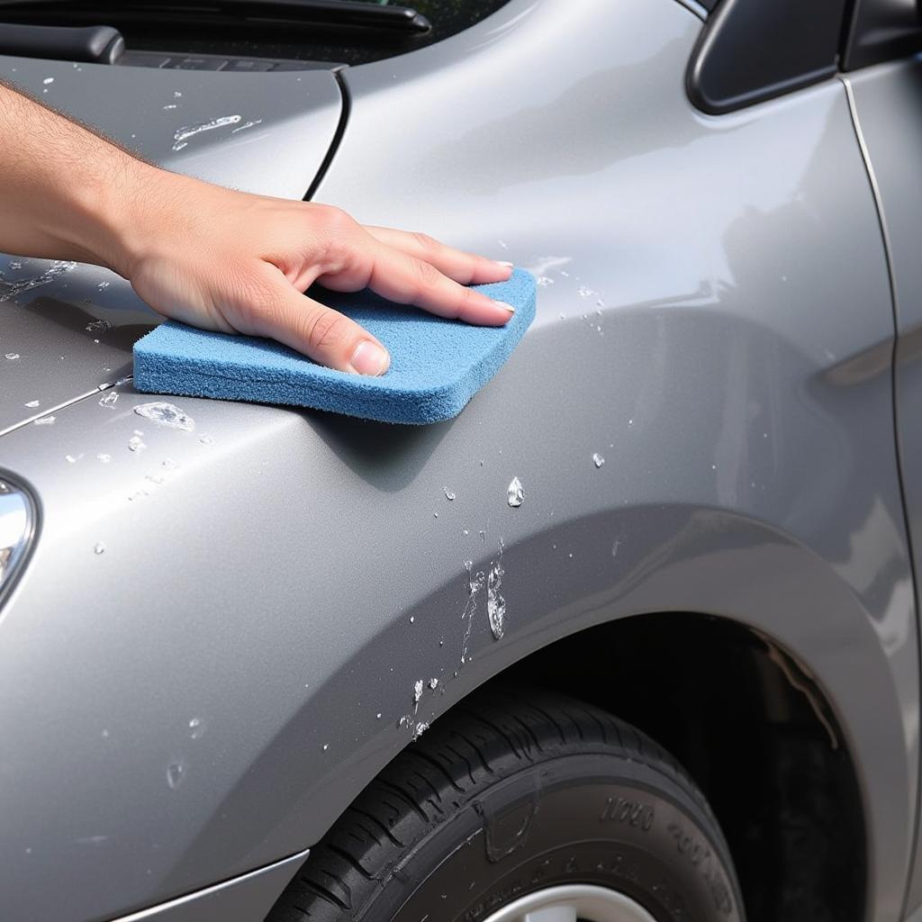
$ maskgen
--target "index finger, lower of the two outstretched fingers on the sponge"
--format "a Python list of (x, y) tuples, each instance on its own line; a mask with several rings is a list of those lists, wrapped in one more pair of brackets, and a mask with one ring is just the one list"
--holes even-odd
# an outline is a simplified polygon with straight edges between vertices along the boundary
[(480, 291), (459, 285), (425, 260), (383, 243), (372, 255), (369, 287), (390, 301), (415, 304), (440, 317), (481, 326), (502, 326), (514, 313), (504, 301), (493, 301)]

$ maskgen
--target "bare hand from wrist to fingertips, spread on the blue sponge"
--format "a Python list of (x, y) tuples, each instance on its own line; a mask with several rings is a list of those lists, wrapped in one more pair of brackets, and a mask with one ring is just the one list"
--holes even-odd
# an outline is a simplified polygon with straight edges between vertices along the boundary
[[(140, 166), (140, 165), (139, 165)], [(302, 294), (371, 288), (443, 317), (500, 326), (513, 309), (469, 284), (512, 266), (417, 233), (362, 227), (326, 205), (234, 192), (148, 168), (118, 233), (112, 268), (155, 311), (269, 337), (344, 372), (378, 375), (390, 357), (370, 333)]]

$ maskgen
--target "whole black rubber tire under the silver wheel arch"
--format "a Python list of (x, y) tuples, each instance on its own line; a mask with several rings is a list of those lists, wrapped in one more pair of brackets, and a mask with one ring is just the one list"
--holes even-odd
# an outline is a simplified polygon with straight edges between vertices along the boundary
[(494, 689), (384, 769), (266, 922), (505, 922), (574, 892), (636, 907), (578, 904), (589, 922), (744, 918), (723, 835), (665, 751), (596, 707)]

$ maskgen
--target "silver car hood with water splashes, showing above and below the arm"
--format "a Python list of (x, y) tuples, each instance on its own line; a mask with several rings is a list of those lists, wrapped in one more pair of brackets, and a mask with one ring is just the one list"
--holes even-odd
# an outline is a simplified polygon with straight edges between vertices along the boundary
[[(0, 56), (0, 77), (162, 166), (302, 198), (342, 114), (326, 69), (158, 70)], [(0, 434), (131, 373), (159, 322), (98, 266), (0, 254)]]

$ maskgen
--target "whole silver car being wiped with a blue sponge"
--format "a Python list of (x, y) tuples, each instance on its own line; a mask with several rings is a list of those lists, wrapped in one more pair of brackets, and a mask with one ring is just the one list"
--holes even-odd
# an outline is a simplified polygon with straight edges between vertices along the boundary
[(399, 427), (137, 393), (128, 283), (0, 256), (0, 919), (919, 922), (915, 2), (408, 5), (0, 5), (142, 157), (538, 279)]

